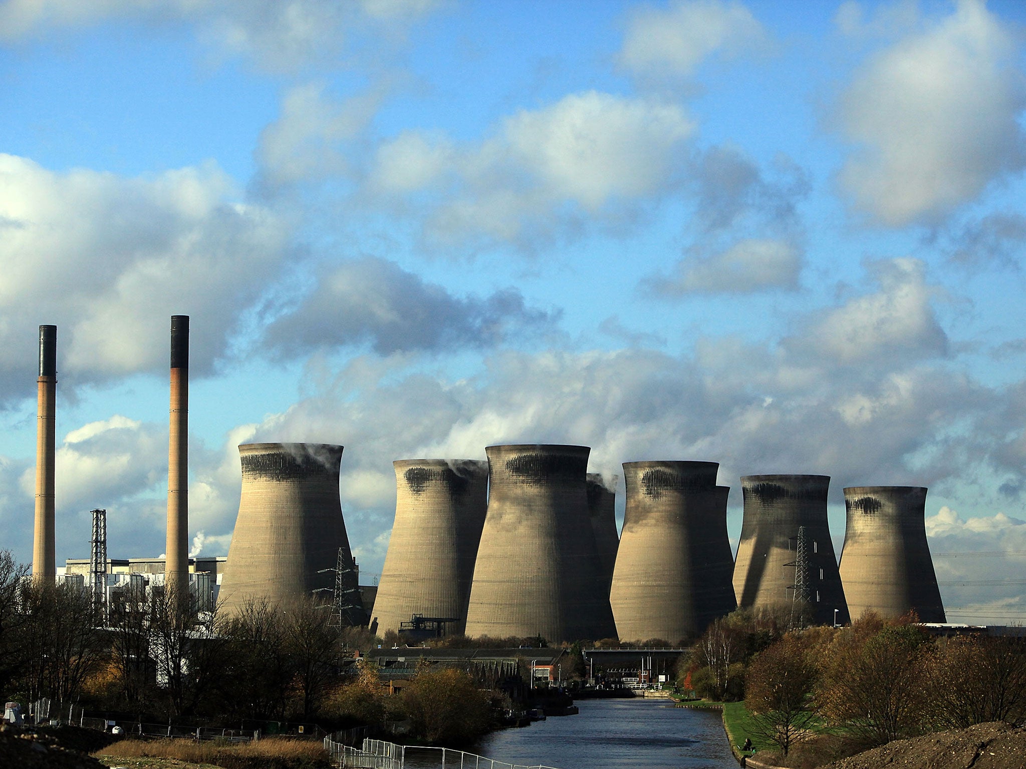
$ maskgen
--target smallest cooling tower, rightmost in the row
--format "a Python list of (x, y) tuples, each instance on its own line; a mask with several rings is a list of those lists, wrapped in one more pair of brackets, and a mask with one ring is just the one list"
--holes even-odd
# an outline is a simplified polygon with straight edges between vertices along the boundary
[(900, 617), (914, 609), (920, 621), (947, 621), (926, 543), (926, 489), (854, 486), (844, 489), (844, 507), (840, 578), (852, 616), (872, 610)]

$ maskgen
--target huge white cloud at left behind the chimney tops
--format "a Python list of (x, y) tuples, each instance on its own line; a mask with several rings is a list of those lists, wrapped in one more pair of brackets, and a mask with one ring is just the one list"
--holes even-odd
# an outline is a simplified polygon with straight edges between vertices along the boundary
[(234, 199), (212, 163), (124, 178), (0, 155), (0, 398), (24, 394), (39, 323), (58, 326), (69, 385), (166, 367), (172, 314), (193, 316), (190, 364), (209, 371), (290, 237)]

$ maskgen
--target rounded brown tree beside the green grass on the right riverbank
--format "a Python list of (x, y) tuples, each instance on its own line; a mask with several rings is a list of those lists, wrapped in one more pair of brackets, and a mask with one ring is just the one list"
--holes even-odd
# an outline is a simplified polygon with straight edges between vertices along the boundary
[(812, 655), (794, 634), (759, 652), (748, 667), (745, 706), (755, 731), (785, 756), (816, 721), (817, 675)]

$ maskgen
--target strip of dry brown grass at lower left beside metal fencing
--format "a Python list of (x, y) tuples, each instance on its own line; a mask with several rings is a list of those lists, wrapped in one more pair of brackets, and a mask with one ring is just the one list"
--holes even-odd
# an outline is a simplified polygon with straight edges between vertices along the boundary
[(184, 765), (224, 769), (328, 769), (323, 745), (315, 740), (265, 737), (256, 742), (194, 742), (188, 739), (124, 739), (93, 754), (108, 765), (163, 769)]

